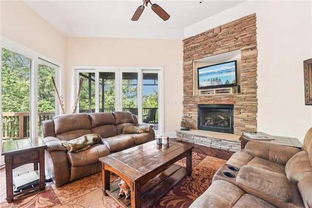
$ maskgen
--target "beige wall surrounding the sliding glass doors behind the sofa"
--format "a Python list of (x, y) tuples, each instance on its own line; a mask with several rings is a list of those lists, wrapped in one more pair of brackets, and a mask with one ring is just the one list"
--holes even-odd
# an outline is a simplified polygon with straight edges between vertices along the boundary
[[(182, 113), (182, 40), (67, 38), (65, 79), (71, 80), (72, 66), (163, 67), (164, 132), (180, 128)], [(66, 100), (73, 93), (66, 82)], [(170, 105), (170, 101), (176, 104)], [(66, 106), (70, 109), (70, 106)]]

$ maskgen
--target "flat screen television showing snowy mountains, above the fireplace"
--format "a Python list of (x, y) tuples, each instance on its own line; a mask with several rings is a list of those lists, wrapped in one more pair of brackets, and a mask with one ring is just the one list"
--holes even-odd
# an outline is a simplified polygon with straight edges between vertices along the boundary
[(237, 61), (228, 61), (197, 68), (198, 89), (237, 85)]

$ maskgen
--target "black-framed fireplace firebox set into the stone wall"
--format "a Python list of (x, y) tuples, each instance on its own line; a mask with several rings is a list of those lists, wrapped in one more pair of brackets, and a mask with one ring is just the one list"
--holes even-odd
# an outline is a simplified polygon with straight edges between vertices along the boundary
[(231, 104), (198, 105), (198, 129), (234, 133), (233, 110)]

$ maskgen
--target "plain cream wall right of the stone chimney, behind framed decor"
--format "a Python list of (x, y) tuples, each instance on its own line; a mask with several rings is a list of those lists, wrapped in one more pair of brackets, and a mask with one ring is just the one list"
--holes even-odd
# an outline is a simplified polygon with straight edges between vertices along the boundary
[(259, 131), (303, 141), (312, 127), (303, 75), (303, 60), (312, 58), (311, 10), (312, 1), (257, 7)]

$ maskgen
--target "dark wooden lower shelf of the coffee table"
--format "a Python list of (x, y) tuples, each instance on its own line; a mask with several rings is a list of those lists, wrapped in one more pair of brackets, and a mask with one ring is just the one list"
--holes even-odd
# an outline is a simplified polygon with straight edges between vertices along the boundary
[[(179, 181), (187, 175), (187, 170), (184, 167), (173, 164), (166, 170), (162, 171), (141, 188), (141, 207), (152, 207), (161, 197), (166, 195)], [(126, 199), (125, 196), (118, 196), (120, 180), (110, 184), (110, 190), (102, 188), (103, 192), (111, 196), (119, 206), (131, 208), (131, 199)], [(130, 192), (131, 194), (131, 192)]]

